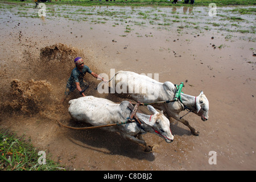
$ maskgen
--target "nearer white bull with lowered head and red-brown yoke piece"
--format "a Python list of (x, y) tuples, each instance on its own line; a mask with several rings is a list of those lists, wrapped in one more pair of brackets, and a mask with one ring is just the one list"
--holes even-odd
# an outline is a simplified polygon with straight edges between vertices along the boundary
[[(68, 111), (72, 118), (90, 123), (93, 126), (126, 122), (127, 117), (131, 113), (131, 110), (128, 108), (129, 101), (115, 104), (105, 98), (86, 96), (71, 100), (69, 104)], [(103, 127), (102, 129), (119, 132), (123, 138), (143, 146), (145, 151), (151, 151), (151, 147), (147, 146), (141, 134), (146, 134), (147, 132), (154, 133), (164, 138), (167, 143), (172, 142), (174, 136), (171, 134), (168, 119), (163, 113), (159, 113), (150, 105), (148, 105), (148, 110), (153, 115), (137, 113), (141, 125), (131, 122), (123, 125)]]

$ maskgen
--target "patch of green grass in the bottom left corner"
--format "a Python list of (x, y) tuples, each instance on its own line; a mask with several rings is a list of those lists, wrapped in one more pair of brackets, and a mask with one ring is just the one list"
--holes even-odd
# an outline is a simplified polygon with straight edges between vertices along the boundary
[(39, 164), (38, 150), (23, 137), (0, 129), (0, 171), (60, 171), (63, 166), (49, 160)]

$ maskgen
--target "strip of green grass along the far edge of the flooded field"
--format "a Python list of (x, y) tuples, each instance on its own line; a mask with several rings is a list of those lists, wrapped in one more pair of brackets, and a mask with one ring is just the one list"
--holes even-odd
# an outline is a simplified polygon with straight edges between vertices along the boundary
[[(19, 0), (0, 0), (0, 2), (20, 2)], [(34, 2), (34, 0), (27, 0), (27, 2)], [(61, 0), (52, 1), (52, 4), (68, 4), (68, 5), (79, 5), (79, 6), (94, 6), (94, 5), (108, 5), (108, 6), (191, 6), (190, 4), (185, 4), (183, 2), (178, 2), (177, 4), (172, 4), (173, 0), (115, 0), (115, 1), (90, 1), (90, 0)], [(47, 2), (48, 3), (48, 2)], [(256, 5), (255, 0), (196, 0), (195, 6), (209, 6), (209, 3), (216, 3), (218, 7), (220, 6), (235, 6), (235, 5)]]

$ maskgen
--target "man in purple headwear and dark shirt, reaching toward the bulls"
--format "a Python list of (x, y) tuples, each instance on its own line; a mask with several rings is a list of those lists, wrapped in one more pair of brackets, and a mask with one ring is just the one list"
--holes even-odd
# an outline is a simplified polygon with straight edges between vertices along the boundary
[[(92, 72), (88, 66), (84, 65), (84, 60), (82, 60), (82, 57), (76, 57), (74, 63), (76, 65), (76, 68), (72, 70), (71, 76), (68, 79), (67, 86), (65, 89), (65, 96), (62, 102), (64, 102), (65, 98), (75, 89), (79, 90), (79, 92), (82, 91), (81, 86), (85, 87), (84, 76), (86, 72), (90, 73), (90, 75), (92, 75), (95, 78), (99, 78), (104, 82), (108, 82), (104, 80), (104, 78), (102, 78), (101, 76), (98, 76), (96, 73)], [(84, 93), (80, 94), (82, 94), (82, 96), (85, 97)]]

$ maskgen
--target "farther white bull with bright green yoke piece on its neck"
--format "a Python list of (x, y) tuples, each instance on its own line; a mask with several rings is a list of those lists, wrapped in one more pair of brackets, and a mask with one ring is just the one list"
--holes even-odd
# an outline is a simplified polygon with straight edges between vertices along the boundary
[[(175, 93), (177, 92), (175, 85), (170, 81), (162, 83), (146, 75), (139, 75), (134, 72), (119, 71), (115, 73), (115, 77), (113, 78), (115, 79), (113, 86), (116, 93), (126, 93), (125, 96), (127, 98), (143, 103), (174, 100)], [(199, 135), (199, 132), (191, 127), (188, 121), (180, 117), (179, 113), (184, 110), (185, 107), (199, 115), (203, 121), (206, 121), (208, 119), (209, 110), (207, 97), (205, 97), (203, 91), (201, 91), (197, 97), (189, 96), (184, 93), (181, 93), (180, 96), (182, 104), (180, 104), (180, 102), (170, 102), (168, 104), (153, 106), (163, 110), (168, 117), (172, 117), (188, 126), (193, 135)]]

